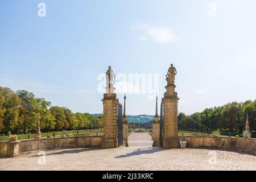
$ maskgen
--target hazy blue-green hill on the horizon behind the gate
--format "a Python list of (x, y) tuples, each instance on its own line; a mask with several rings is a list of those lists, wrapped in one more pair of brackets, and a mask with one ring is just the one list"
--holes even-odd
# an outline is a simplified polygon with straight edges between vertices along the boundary
[[(96, 117), (101, 117), (102, 114), (92, 114)], [(141, 115), (126, 115), (127, 116), (127, 121), (129, 123), (147, 123), (147, 122), (153, 122), (154, 121), (154, 115), (146, 115), (146, 114), (141, 114)]]

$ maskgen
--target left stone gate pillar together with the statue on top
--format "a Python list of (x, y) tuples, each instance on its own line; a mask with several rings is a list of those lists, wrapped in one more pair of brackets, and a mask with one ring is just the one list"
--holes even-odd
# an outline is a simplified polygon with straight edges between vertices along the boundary
[(117, 133), (117, 94), (114, 93), (114, 72), (109, 67), (106, 72), (106, 93), (103, 98), (103, 139), (102, 147), (118, 147)]

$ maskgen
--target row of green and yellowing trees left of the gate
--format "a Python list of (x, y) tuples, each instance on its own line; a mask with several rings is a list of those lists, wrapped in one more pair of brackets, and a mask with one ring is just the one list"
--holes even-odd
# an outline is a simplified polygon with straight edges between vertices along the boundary
[(27, 133), (36, 130), (96, 129), (102, 127), (102, 117), (88, 113), (72, 113), (67, 107), (51, 106), (45, 98), (35, 97), (26, 90), (16, 93), (0, 86), (0, 132)]

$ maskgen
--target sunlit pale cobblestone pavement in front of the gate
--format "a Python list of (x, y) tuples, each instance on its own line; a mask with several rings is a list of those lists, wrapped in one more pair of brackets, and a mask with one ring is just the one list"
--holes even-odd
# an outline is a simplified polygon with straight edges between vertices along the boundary
[(37, 152), (2, 158), (0, 170), (256, 170), (254, 154), (194, 148), (166, 150), (139, 144), (47, 151), (46, 164), (41, 159)]

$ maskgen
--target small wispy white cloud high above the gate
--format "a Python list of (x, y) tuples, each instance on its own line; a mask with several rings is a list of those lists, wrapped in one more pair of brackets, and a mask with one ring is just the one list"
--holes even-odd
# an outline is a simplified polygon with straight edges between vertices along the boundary
[(157, 43), (171, 43), (177, 40), (177, 35), (170, 28), (154, 26), (152, 24), (139, 24), (131, 27), (133, 31), (140, 31), (139, 40), (148, 40)]

